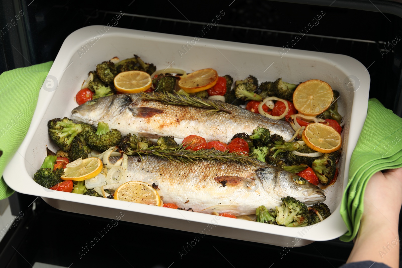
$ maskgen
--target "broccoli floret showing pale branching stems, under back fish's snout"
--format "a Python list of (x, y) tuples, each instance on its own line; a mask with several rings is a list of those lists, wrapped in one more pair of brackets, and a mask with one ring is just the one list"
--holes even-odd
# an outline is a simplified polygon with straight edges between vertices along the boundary
[(82, 131), (80, 124), (73, 123), (67, 117), (49, 120), (47, 129), (51, 140), (63, 151), (70, 151), (71, 142)]

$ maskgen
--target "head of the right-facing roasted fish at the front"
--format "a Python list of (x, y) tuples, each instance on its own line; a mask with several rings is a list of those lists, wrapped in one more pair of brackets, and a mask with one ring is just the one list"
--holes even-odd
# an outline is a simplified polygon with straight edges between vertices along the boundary
[(324, 202), (326, 199), (324, 190), (320, 187), (280, 168), (259, 168), (256, 174), (263, 186), (269, 189), (271, 196), (272, 193), (275, 193), (278, 198), (291, 196), (306, 205)]

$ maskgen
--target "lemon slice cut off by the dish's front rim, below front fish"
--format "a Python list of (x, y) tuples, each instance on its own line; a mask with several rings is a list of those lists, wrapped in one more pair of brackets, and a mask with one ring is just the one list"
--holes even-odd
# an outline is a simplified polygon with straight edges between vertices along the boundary
[(162, 206), (162, 200), (152, 185), (146, 182), (131, 180), (121, 184), (115, 191), (114, 198), (133, 203)]

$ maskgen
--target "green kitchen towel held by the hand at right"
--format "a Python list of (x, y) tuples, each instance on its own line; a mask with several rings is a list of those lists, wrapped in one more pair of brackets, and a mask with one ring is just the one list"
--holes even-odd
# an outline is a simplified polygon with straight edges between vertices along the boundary
[(355, 238), (363, 214), (364, 191), (375, 172), (402, 166), (402, 118), (377, 99), (369, 100), (367, 117), (349, 166), (349, 182), (340, 215), (348, 228), (340, 240)]

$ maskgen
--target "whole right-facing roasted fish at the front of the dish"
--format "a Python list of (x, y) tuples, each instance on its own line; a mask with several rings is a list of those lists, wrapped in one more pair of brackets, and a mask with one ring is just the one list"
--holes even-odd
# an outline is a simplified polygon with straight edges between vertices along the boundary
[[(298, 184), (301, 180), (305, 184)], [(237, 162), (169, 162), (155, 156), (129, 156), (127, 181), (158, 185), (164, 203), (208, 213), (250, 215), (260, 205), (281, 205), (281, 197), (292, 196), (306, 205), (325, 200), (324, 190), (303, 178), (261, 162), (248, 166)], [(162, 198), (162, 197), (161, 197)]]

